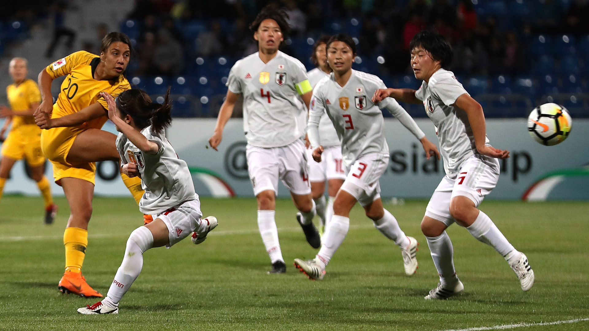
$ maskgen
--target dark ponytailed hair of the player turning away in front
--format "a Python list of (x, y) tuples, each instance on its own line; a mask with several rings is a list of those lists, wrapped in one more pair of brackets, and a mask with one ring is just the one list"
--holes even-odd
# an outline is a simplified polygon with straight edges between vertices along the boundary
[(119, 94), (115, 102), (122, 114), (133, 118), (136, 127), (143, 130), (151, 125), (151, 131), (160, 134), (172, 123), (170, 89), (171, 87), (168, 87), (163, 104), (151, 102), (150, 96), (145, 91), (136, 88)]

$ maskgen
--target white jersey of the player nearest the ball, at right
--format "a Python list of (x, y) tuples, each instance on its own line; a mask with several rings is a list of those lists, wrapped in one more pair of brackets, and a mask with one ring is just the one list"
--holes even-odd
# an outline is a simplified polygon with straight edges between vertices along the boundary
[[(423, 81), (419, 90), (415, 91), (415, 97), (423, 101), (426, 113), (434, 122), (440, 153), (444, 158), (444, 170), (451, 178), (472, 155), (477, 155), (488, 165), (494, 163), (491, 157), (478, 153), (468, 116), (455, 105), (462, 94), (468, 92), (456, 80), (454, 73), (445, 69), (438, 69), (429, 78), (429, 83)], [(487, 137), (485, 143), (489, 143)]]

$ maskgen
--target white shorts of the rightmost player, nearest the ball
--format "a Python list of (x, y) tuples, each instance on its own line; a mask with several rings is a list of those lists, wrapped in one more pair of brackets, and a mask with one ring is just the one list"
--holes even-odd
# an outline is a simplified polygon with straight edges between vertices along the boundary
[(462, 163), (456, 178), (444, 176), (429, 199), (425, 216), (450, 226), (455, 222), (450, 215), (450, 200), (455, 196), (465, 196), (478, 207), (499, 180), (499, 160), (493, 160), (494, 164), (489, 166), (473, 155)]

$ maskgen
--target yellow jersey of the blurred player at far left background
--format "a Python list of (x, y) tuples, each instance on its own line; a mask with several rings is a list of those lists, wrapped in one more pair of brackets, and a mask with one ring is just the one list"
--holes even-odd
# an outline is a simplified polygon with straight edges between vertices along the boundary
[[(8, 87), (6, 87), (6, 96), (8, 97), (10, 108), (12, 108), (12, 111), (17, 114), (18, 112), (29, 110), (31, 104), (34, 104), (35, 102), (41, 103), (41, 92), (34, 80), (25, 80), (18, 85), (8, 85)], [(12, 130), (18, 130), (22, 125), (37, 126), (37, 124), (35, 124), (35, 118), (31, 115), (14, 115), (12, 117)]]

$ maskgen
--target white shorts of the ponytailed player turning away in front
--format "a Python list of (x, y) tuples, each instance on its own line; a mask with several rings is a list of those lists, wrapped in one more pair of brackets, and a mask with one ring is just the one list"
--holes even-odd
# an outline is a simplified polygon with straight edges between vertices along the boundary
[(196, 198), (196, 200), (184, 201), (152, 217), (154, 220), (160, 219), (166, 223), (170, 236), (170, 243), (166, 247), (170, 248), (196, 230), (203, 213), (200, 211), (200, 200)]

